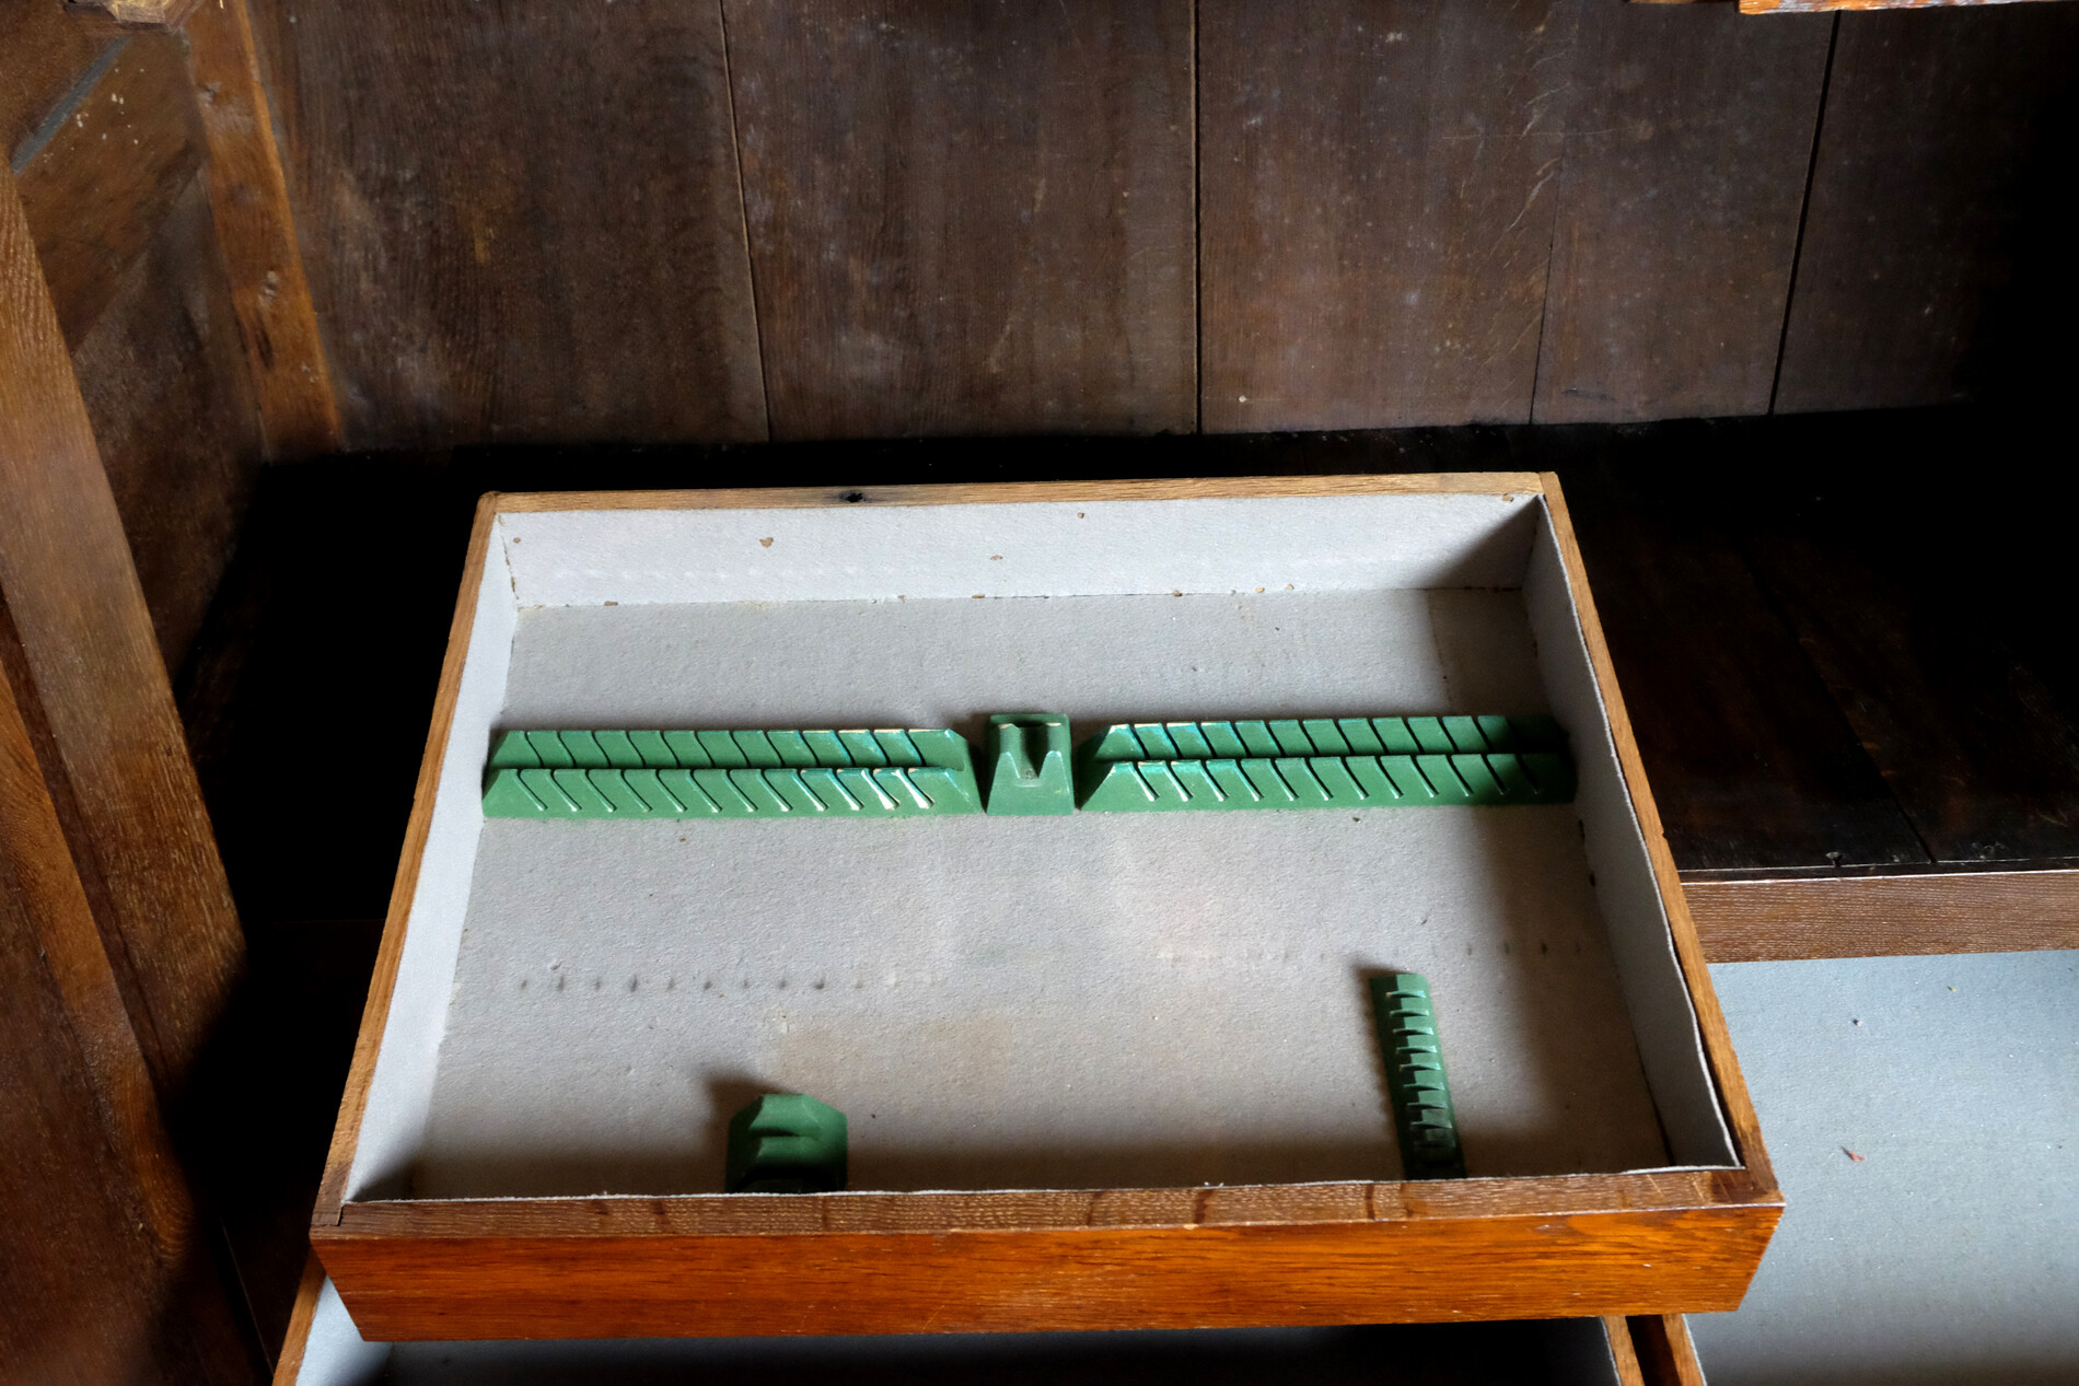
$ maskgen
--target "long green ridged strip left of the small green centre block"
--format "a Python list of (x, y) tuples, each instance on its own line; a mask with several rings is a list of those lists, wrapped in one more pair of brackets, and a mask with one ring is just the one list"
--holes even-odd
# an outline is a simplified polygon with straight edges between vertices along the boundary
[(981, 812), (975, 756), (944, 727), (501, 731), (491, 819), (890, 819)]

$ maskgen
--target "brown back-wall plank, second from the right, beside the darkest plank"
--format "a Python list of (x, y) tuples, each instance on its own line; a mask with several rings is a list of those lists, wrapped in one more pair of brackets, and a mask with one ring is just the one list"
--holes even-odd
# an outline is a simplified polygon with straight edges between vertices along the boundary
[(1534, 418), (1767, 414), (1834, 23), (1576, 10)]

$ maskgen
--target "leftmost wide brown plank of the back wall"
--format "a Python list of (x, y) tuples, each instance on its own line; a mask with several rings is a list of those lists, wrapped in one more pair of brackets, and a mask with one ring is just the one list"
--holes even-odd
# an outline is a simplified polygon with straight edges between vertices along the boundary
[(763, 436), (715, 0), (254, 25), (351, 447)]

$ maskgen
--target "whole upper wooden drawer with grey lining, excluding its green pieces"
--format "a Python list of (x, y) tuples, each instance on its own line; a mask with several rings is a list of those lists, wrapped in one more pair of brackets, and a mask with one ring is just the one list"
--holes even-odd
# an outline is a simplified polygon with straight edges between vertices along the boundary
[[(1549, 713), (1570, 804), (486, 819), (505, 727)], [(1470, 1178), (1403, 1182), (1362, 979)], [(850, 1184), (721, 1193), (757, 1091)], [(1780, 1197), (1557, 484), (486, 497), (314, 1216), (360, 1334), (1732, 1307)]]

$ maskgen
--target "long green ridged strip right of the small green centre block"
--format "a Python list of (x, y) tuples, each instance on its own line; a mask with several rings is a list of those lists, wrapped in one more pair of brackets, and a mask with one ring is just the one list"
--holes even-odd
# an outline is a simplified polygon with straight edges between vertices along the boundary
[(1565, 804), (1551, 717), (1312, 717), (1116, 723), (1075, 756), (1077, 806), (1412, 808)]

